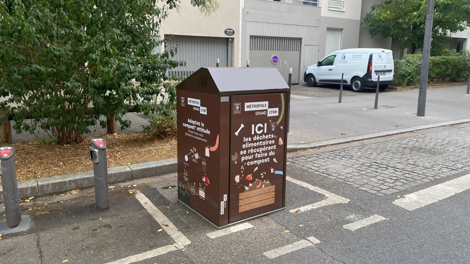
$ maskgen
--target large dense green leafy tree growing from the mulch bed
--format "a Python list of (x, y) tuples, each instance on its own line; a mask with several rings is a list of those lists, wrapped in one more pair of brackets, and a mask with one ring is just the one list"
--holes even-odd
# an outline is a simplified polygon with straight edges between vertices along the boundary
[[(180, 3), (159, 1), (0, 0), (0, 107), (16, 113), (16, 132), (40, 127), (71, 144), (101, 116), (126, 128), (131, 105), (154, 112), (152, 98), (171, 92), (165, 73), (184, 63), (171, 60), (176, 48), (152, 54), (164, 41), (155, 38), (158, 25)], [(191, 4), (206, 15), (218, 8)]]

